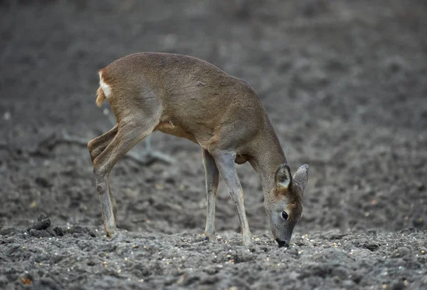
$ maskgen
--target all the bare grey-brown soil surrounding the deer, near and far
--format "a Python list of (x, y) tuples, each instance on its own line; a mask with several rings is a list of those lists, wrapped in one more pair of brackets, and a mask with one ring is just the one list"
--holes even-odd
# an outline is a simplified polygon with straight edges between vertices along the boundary
[[(427, 289), (426, 15), (421, 0), (0, 1), (0, 288)], [(255, 246), (222, 182), (204, 243), (201, 152), (162, 133), (176, 162), (117, 163), (123, 238), (105, 237), (87, 147), (63, 133), (112, 127), (97, 70), (137, 51), (251, 83), (292, 171), (310, 165), (288, 249), (247, 164)]]

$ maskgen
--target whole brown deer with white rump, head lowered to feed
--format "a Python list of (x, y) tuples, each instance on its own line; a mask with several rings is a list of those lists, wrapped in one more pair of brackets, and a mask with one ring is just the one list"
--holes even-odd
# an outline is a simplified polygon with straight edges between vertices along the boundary
[(309, 166), (291, 175), (278, 136), (251, 85), (217, 66), (176, 53), (141, 52), (98, 71), (98, 107), (107, 100), (117, 120), (90, 140), (105, 233), (121, 235), (110, 171), (134, 145), (154, 131), (186, 138), (201, 147), (206, 177), (206, 241), (216, 240), (215, 208), (221, 175), (236, 205), (243, 245), (253, 245), (235, 164), (249, 162), (263, 189), (264, 207), (278, 247), (289, 247), (302, 215)]

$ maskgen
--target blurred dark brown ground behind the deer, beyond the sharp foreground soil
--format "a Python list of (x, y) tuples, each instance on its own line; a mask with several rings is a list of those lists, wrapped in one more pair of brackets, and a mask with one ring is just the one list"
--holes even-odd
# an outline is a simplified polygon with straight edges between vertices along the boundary
[[(297, 233), (427, 229), (426, 15), (422, 0), (0, 1), (0, 227), (44, 212), (102, 228), (85, 147), (112, 127), (97, 71), (164, 51), (251, 83), (292, 172), (310, 165)], [(117, 163), (118, 227), (203, 233), (199, 147), (162, 133), (151, 145), (176, 162)], [(238, 173), (252, 231), (270, 234), (258, 176)], [(217, 232), (238, 230), (221, 181)]]

